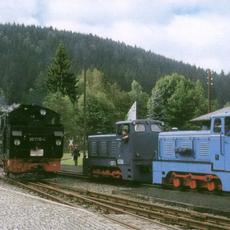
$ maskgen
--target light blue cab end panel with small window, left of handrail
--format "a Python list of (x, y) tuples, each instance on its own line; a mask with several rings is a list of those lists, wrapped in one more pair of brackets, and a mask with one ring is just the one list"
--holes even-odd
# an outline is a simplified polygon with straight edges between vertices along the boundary
[(210, 151), (214, 170), (224, 170), (225, 168), (225, 149), (224, 149), (224, 129), (223, 118), (212, 120), (212, 135), (210, 136)]

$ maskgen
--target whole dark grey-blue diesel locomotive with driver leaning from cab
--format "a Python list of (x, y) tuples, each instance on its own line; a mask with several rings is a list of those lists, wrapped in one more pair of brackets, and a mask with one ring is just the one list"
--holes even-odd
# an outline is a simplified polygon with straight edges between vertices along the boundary
[[(122, 140), (124, 129), (128, 131), (128, 139)], [(150, 119), (120, 121), (116, 123), (116, 130), (116, 134), (88, 137), (84, 174), (151, 182), (161, 122)]]

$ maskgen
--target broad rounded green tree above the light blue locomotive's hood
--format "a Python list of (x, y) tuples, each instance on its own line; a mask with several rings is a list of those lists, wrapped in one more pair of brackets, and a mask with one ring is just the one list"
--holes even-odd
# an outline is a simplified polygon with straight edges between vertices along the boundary
[(149, 115), (164, 121), (166, 127), (188, 128), (194, 116), (204, 113), (207, 100), (200, 82), (172, 74), (157, 81), (148, 102)]

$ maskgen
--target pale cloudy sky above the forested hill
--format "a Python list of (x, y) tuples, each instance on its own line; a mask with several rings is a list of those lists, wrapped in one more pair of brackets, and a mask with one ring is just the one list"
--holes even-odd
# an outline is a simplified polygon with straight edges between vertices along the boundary
[(92, 33), (230, 72), (229, 0), (1, 0), (0, 22)]

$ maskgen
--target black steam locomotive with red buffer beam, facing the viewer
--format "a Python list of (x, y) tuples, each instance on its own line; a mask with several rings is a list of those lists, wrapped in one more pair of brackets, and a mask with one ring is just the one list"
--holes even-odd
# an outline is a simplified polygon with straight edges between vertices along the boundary
[(56, 112), (38, 105), (9, 107), (0, 116), (0, 159), (9, 174), (57, 172), (63, 126)]

